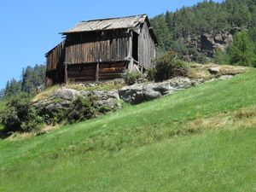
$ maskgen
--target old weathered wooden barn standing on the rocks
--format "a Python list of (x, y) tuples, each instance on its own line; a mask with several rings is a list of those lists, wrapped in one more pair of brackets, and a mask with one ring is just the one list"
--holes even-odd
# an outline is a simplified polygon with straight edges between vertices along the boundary
[(45, 85), (120, 79), (152, 67), (158, 40), (147, 15), (81, 21), (49, 50)]

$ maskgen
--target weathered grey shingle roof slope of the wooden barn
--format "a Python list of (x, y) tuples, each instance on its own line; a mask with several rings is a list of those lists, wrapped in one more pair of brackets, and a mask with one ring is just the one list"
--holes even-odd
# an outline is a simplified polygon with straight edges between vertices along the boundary
[(147, 15), (134, 15), (121, 18), (80, 21), (73, 28), (61, 33), (67, 34), (72, 32), (90, 32), (110, 29), (134, 28), (140, 23), (143, 23), (146, 18)]

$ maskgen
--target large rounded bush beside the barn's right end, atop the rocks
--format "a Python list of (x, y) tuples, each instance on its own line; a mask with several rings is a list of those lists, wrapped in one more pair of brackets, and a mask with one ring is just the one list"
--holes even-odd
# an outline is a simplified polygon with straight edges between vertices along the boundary
[(156, 81), (171, 79), (177, 76), (187, 76), (189, 68), (184, 61), (177, 59), (177, 54), (173, 51), (161, 55), (155, 60), (155, 75)]

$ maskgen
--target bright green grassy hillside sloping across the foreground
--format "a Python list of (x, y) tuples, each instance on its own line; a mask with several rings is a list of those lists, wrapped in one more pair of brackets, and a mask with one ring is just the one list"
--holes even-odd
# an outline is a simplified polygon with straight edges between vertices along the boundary
[(255, 75), (0, 140), (0, 191), (255, 191)]

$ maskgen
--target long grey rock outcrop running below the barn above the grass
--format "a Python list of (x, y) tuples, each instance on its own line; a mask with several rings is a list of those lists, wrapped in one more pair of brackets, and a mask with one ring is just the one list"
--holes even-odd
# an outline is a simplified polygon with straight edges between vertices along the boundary
[(90, 97), (93, 107), (100, 109), (100, 113), (106, 113), (121, 108), (119, 98), (131, 104), (138, 104), (172, 94), (177, 90), (211, 82), (217, 79), (230, 79), (233, 75), (244, 73), (246, 67), (200, 65), (193, 67), (194, 76), (185, 78), (177, 77), (160, 83), (144, 82), (125, 86), (120, 90), (74, 90), (61, 88), (40, 101), (34, 102), (33, 106), (40, 112), (54, 114), (59, 110), (68, 110), (71, 103), (78, 97)]

